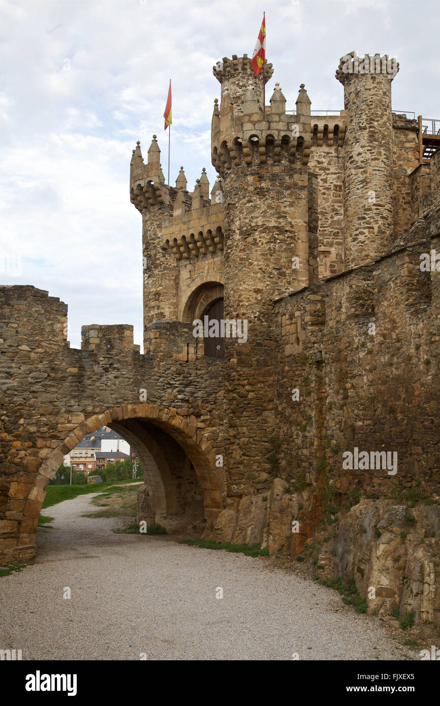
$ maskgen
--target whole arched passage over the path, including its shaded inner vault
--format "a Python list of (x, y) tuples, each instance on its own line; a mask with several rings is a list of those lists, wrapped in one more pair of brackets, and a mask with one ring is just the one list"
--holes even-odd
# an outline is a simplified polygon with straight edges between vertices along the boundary
[[(64, 454), (85, 433), (96, 431), (103, 424), (124, 436), (136, 450), (149, 501), (148, 508), (144, 508), (146, 518), (171, 531), (194, 522), (201, 527), (205, 522), (210, 527), (210, 521), (222, 510), (225, 485), (222, 468), (215, 466), (215, 450), (205, 439), (197, 438), (198, 430), (191, 418), (157, 405), (122, 405), (92, 414), (72, 429), (64, 444), (42, 460), (32, 480), (28, 478), (29, 484), (11, 483), (6, 513), (13, 513), (16, 532), (11, 532), (6, 542), (0, 540), (0, 550), (14, 544), (16, 556), (29, 558), (35, 553), (35, 531), (45, 487)], [(17, 503), (23, 505), (22, 510), (17, 509)]]

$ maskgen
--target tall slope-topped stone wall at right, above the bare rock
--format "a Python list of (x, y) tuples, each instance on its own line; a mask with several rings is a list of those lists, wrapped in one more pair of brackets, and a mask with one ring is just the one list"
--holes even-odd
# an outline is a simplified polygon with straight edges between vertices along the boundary
[[(325, 453), (341, 493), (359, 487), (391, 497), (415, 483), (439, 489), (439, 299), (436, 273), (419, 268), (431, 246), (424, 239), (278, 302), (282, 477), (310, 482)], [(342, 452), (354, 446), (396, 450), (398, 474), (344, 471)]]

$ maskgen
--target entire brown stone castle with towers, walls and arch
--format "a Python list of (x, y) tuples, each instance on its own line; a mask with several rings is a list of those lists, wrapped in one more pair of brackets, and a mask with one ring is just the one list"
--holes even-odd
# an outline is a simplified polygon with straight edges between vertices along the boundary
[[(303, 84), (295, 112), (278, 84), (265, 105), (271, 64), (218, 62), (211, 192), (204, 169), (192, 192), (183, 167), (165, 184), (156, 137), (147, 162), (138, 143), (143, 354), (130, 325), (83, 326), (72, 349), (65, 304), (0, 287), (1, 563), (35, 556), (49, 479), (106, 424), (143, 467), (138, 520), (314, 557), (374, 587), (369, 611), (440, 626), (435, 253), (420, 266), (440, 253), (440, 150), (392, 111), (379, 58), (341, 59), (326, 116)], [(205, 317), (246, 340), (195, 337)], [(387, 453), (396, 470), (374, 466)]]

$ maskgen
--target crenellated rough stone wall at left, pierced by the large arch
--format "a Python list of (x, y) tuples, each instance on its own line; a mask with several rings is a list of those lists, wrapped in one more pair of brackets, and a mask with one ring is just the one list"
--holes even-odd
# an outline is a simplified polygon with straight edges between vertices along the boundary
[[(66, 306), (34, 287), (1, 287), (0, 312), (0, 561), (35, 552), (49, 479), (64, 454), (102, 424), (130, 437), (145, 465), (156, 453), (145, 425), (170, 435), (196, 470), (204, 517), (217, 517), (224, 489), (223, 469), (215, 466), (222, 446), (222, 361), (196, 355), (191, 325), (153, 324), (150, 353), (141, 356), (133, 346), (132, 327), (124, 325), (87, 326), (83, 349), (69, 348)], [(146, 402), (140, 402), (141, 395)], [(173, 488), (182, 483), (185, 463), (191, 471), (181, 459), (181, 470), (179, 464), (173, 469)], [(152, 467), (163, 486), (157, 462)], [(171, 514), (183, 508), (192, 516), (191, 507), (200, 509), (200, 492), (194, 495), (190, 475), (185, 480), (189, 494), (182, 486), (180, 496), (169, 498)], [(169, 512), (167, 502), (157, 502), (157, 512), (160, 507)]]

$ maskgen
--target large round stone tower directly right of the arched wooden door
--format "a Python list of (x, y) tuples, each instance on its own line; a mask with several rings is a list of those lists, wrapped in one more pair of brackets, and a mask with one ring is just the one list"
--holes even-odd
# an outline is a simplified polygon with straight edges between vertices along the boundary
[(273, 301), (309, 283), (310, 104), (286, 114), (277, 86), (263, 112), (262, 79), (246, 56), (213, 73), (222, 84), (211, 147), (225, 202), (225, 319), (247, 322), (246, 343), (225, 339), (225, 465), (238, 496), (274, 431)]

